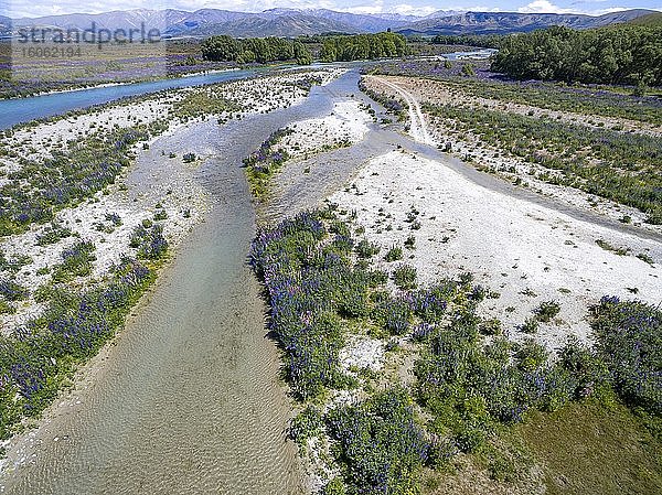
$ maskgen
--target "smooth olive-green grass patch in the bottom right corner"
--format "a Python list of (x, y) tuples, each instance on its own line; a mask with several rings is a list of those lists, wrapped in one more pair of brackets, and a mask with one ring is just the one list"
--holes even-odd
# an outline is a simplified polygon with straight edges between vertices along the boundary
[(662, 493), (662, 448), (624, 406), (597, 400), (517, 427), (549, 495)]

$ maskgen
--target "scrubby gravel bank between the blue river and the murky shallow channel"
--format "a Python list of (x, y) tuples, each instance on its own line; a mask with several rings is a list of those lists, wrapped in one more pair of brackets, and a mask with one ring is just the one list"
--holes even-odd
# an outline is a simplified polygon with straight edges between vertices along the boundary
[(196, 125), (298, 104), (340, 73), (168, 90), (1, 133), (3, 443), (121, 326), (204, 218), (213, 198), (197, 172), (213, 155), (186, 152)]

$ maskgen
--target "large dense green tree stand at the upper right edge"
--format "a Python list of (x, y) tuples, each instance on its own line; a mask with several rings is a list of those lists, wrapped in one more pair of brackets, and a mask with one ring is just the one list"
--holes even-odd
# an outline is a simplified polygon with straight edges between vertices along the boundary
[(554, 26), (504, 36), (491, 69), (516, 79), (662, 85), (662, 28)]

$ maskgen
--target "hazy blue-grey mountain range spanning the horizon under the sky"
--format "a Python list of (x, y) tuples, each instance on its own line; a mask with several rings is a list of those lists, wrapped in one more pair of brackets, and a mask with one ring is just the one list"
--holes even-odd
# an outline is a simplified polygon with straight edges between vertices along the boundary
[[(396, 13), (355, 14), (328, 9), (270, 9), (264, 12), (234, 12), (218, 9), (113, 11), (99, 14), (74, 13), (13, 20), (14, 32), (21, 28), (60, 28), (85, 30), (136, 29), (142, 23), (157, 26), (168, 37), (206, 36), (297, 36), (328, 32), (374, 33), (386, 30), (404, 34), (496, 34), (526, 32), (549, 25), (575, 29), (599, 28), (628, 22), (653, 11), (634, 9), (599, 17), (583, 14), (458, 12), (438, 11), (425, 18)], [(9, 31), (9, 20), (0, 17), (0, 34)]]

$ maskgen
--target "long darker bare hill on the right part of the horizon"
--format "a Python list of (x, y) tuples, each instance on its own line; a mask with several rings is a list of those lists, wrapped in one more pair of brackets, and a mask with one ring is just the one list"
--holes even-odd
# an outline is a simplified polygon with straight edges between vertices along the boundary
[(425, 19), (399, 30), (403, 34), (505, 34), (527, 32), (552, 25), (575, 29), (600, 28), (650, 14), (650, 10), (627, 10), (599, 17), (556, 13), (466, 12)]

